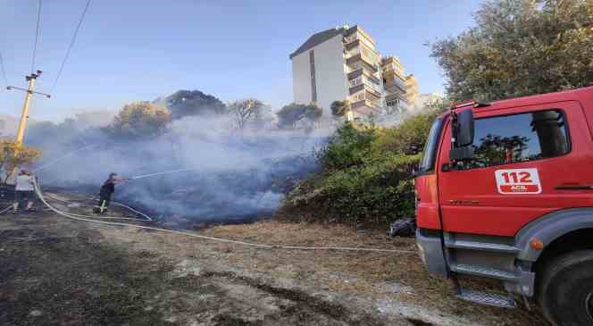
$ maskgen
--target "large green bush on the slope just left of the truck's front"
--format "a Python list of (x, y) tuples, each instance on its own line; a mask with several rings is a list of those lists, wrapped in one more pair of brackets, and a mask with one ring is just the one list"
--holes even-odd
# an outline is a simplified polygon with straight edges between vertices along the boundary
[(394, 129), (346, 122), (317, 157), (321, 171), (288, 194), (280, 213), (355, 226), (385, 228), (414, 214), (413, 169), (440, 109), (406, 119)]

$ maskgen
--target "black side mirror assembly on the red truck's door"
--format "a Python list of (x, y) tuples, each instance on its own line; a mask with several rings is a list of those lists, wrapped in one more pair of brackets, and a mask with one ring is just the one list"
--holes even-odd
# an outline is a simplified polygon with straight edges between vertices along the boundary
[(462, 161), (473, 157), (474, 121), (472, 109), (456, 113), (452, 123), (453, 140), (449, 159)]

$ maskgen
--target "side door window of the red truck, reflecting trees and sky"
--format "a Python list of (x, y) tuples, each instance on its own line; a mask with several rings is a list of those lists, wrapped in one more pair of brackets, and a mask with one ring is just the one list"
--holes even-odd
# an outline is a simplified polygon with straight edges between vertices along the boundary
[(564, 114), (558, 110), (477, 119), (472, 146), (475, 155), (465, 168), (528, 162), (570, 150)]

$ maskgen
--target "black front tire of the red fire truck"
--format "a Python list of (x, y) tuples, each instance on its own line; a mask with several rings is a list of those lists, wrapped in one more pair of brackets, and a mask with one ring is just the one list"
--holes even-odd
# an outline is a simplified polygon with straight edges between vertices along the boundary
[(547, 320), (557, 326), (593, 325), (593, 250), (546, 263), (538, 301)]

